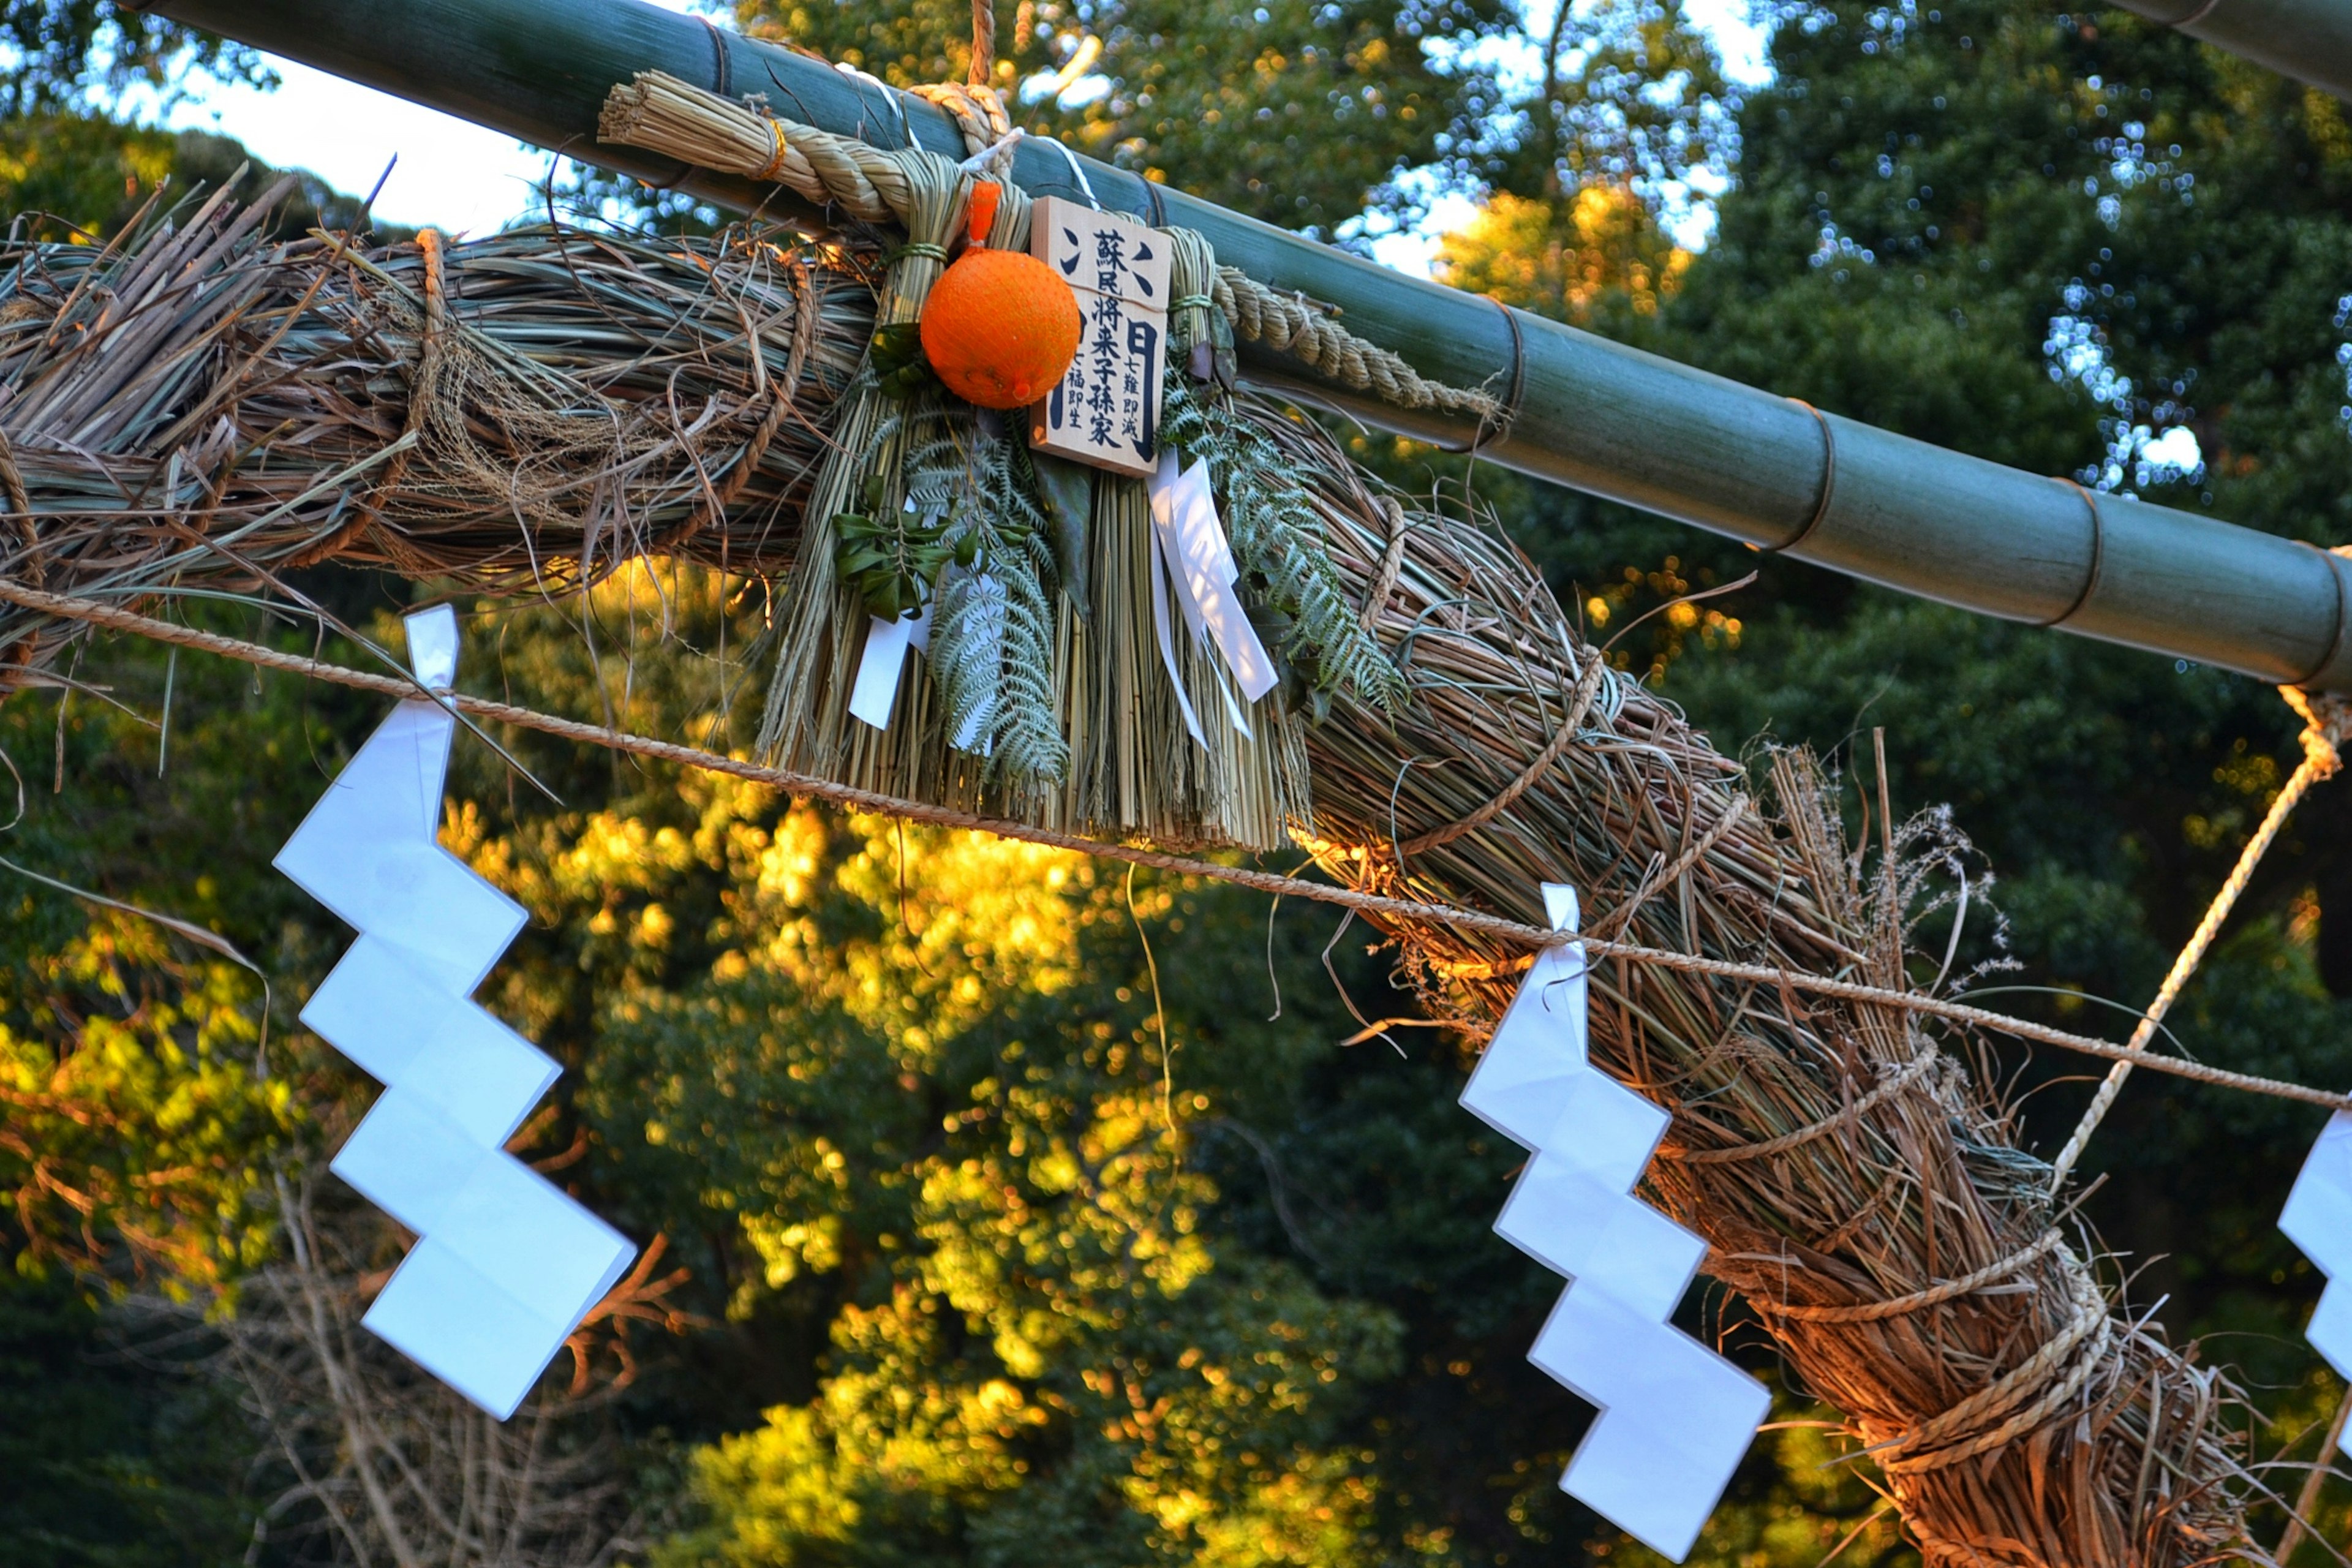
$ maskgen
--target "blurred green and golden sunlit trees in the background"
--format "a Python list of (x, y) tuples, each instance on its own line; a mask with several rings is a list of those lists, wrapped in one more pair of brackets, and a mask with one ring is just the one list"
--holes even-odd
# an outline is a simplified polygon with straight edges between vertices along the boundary
[[(962, 0), (731, 12), (891, 80), (964, 71)], [(1021, 0), (1000, 80), (1035, 129), (1336, 242), (1475, 190), (1437, 259), (1463, 287), (1992, 461), (2352, 541), (2340, 103), (2110, 12), (1766, 21), (1771, 75), (1736, 87), (1672, 0)], [(103, 235), (155, 181), (242, 162), (94, 106), (254, 78), (249, 54), (96, 0), (12, 2), (5, 33), (0, 195), (47, 214), (33, 233)], [(278, 221), (353, 219), (303, 181)], [(2237, 677), (1494, 470), (1477, 489), (1724, 750), (1809, 743), (1875, 788), (1882, 729), (1898, 809), (1950, 802), (1999, 875), (2016, 971), (1987, 994), (2032, 987), (2006, 1009), (2119, 1037), (2100, 999), (2152, 994), (2296, 755)], [(383, 637), (430, 592), (313, 578)], [(708, 654), (757, 630), (741, 588), (661, 569), (588, 604), (468, 602), (466, 682), (741, 743), (743, 670)], [(353, 1495), (303, 1486), (318, 1450), (280, 1441), (238, 1354), (287, 1253), (278, 1180), (318, 1173), (372, 1095), (294, 1020), (346, 936), (268, 856), (376, 705), (132, 646), (73, 679), (0, 708), (0, 853), (223, 947), (0, 870), (0, 1566), (353, 1556)], [(647, 1309), (548, 1382), (590, 1434), (564, 1486), (595, 1495), (602, 1561), (1651, 1561), (1555, 1490), (1585, 1415), (1524, 1349), (1557, 1281), (1486, 1229), (1517, 1154), (1454, 1107), (1461, 1053), (1404, 1027), (1338, 1044), (1357, 1009), (1409, 1011), (1362, 929), (501, 741), (564, 802), (459, 748), (445, 842), (534, 917), (487, 1001), (567, 1067), (517, 1147), (663, 1246)], [(2176, 1009), (2199, 1058), (2352, 1077), (2343, 790), (2303, 806)], [(1999, 952), (1990, 924), (1969, 943)], [(2086, 1088), (2013, 1067), (2046, 1152)], [(2300, 1342), (2319, 1281), (2274, 1229), (2317, 1121), (2143, 1074), (2086, 1161), (2133, 1298), (2241, 1368), (2258, 1458), (2307, 1455), (2338, 1392)], [(318, 1192), (320, 1225), (397, 1255)], [(1686, 1324), (1778, 1378), (1703, 1286)], [(1693, 1561), (1915, 1561), (1783, 1394), (1797, 1425), (1759, 1439)], [(449, 1561), (600, 1559), (454, 1540)]]

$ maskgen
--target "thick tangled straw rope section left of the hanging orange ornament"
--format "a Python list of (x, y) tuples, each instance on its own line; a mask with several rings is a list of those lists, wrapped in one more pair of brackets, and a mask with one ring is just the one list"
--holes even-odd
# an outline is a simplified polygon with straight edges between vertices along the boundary
[[(134, 602), (322, 559), (501, 595), (793, 559), (870, 329), (851, 268), (753, 233), (270, 244), (273, 200), (0, 249), (0, 574)], [(71, 635), (0, 611), (0, 691)]]

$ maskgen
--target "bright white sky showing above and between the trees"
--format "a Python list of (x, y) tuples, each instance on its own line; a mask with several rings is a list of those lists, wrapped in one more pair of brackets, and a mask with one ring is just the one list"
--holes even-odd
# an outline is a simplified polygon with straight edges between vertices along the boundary
[[(694, 0), (652, 2), (673, 12), (696, 9)], [(1545, 31), (1548, 0), (1534, 0), (1529, 9), (1531, 31)], [(1715, 38), (1733, 80), (1764, 80), (1764, 35), (1750, 24), (1745, 0), (1689, 0), (1686, 9)], [(548, 155), (539, 148), (289, 59), (270, 56), (270, 63), (282, 78), (275, 92), (207, 85), (169, 106), (162, 125), (235, 136), (263, 162), (310, 169), (336, 190), (367, 193), (383, 179), (374, 212), (388, 223), (480, 235), (536, 205), (536, 186), (548, 174)], [(1468, 214), (1465, 200), (1449, 197), (1432, 207), (1421, 233), (1390, 235), (1376, 242), (1376, 254), (1390, 266), (1425, 273), (1435, 235)], [(1703, 230), (1700, 221), (1677, 237), (1703, 240)]]

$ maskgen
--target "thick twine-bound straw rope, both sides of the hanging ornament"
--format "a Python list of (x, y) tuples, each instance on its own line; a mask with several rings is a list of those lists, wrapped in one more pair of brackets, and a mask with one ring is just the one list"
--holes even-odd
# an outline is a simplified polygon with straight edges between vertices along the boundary
[[(807, 162), (882, 188), (854, 146)], [(266, 247), (219, 200), (122, 252), (19, 252), (0, 480), (21, 543), (0, 583), (127, 607), (322, 559), (489, 592), (661, 552), (781, 574), (830, 515), (807, 515), (807, 491), (863, 440), (837, 428), (858, 400), (835, 397), (873, 322), (870, 261), (569, 230), (437, 254)], [(466, 376), (428, 374), (428, 353)], [(463, 414), (412, 416), (419, 386)], [(1498, 536), (1388, 494), (1287, 409), (1244, 395), (1232, 416), (1308, 487), (1402, 679), (1392, 712), (1341, 696), (1303, 736), (1305, 842), (1334, 877), (1526, 924), (1538, 884), (1569, 882), (1595, 936), (1891, 997), (1604, 957), (1592, 1051), (1672, 1112), (1646, 1197), (1710, 1241), (1708, 1272), (1849, 1415), (1929, 1561), (2267, 1561), (2227, 1385), (2110, 1302), (2049, 1166), (1947, 1051), (1966, 1034), (1898, 1004), (1910, 922), (1962, 853), (1945, 818), (1865, 858), (1804, 755), (1773, 755), (1750, 792)], [(9, 604), (0, 689), (38, 682), (73, 625), (38, 595)], [(1522, 945), (1439, 914), (1371, 919), (1435, 1018), (1491, 1027)]]

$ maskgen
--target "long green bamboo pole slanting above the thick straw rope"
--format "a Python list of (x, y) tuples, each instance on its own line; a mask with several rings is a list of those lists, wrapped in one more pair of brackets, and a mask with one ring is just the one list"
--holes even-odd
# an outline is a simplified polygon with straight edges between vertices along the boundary
[[(2216, 14), (2263, 5), (2343, 9), (2345, 0), (2220, 0)], [(153, 0), (151, 9), (741, 212), (774, 212), (774, 193), (597, 146), (607, 89), (666, 71), (722, 94), (767, 94), (776, 110), (830, 132), (962, 155), (948, 118), (920, 99), (642, 0)], [(1129, 172), (1073, 162), (1051, 143), (1023, 143), (1014, 179), (1075, 193), (1080, 169), (1105, 207), (1197, 228), (1218, 261), (1329, 301), (1352, 331), (1425, 376), (1517, 393), (1517, 418), (1479, 447), (1496, 463), (1980, 614), (2352, 693), (2352, 562), (1816, 416)], [(1446, 447), (1479, 435), (1458, 418), (1348, 393), (1279, 353), (1249, 348), (1244, 364), (1263, 386), (1399, 435)]]

